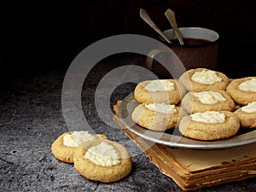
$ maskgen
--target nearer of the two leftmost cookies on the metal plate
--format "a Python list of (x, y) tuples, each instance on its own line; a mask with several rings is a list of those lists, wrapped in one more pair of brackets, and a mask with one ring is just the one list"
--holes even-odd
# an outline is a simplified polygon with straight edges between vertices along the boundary
[(143, 103), (134, 108), (131, 119), (144, 128), (166, 131), (175, 128), (181, 117), (186, 115), (182, 108), (166, 103)]

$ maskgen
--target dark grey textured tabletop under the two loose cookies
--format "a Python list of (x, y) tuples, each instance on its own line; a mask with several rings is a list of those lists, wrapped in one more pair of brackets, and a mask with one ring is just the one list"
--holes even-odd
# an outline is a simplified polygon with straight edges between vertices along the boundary
[[(130, 59), (129, 62), (139, 64), (141, 61)], [(172, 178), (151, 164), (114, 122), (106, 125), (98, 117), (94, 103), (96, 84), (109, 68), (119, 65), (119, 61), (103, 61), (91, 72), (84, 81), (82, 106), (96, 133), (105, 134), (130, 150), (131, 174), (116, 183), (96, 183), (80, 176), (73, 165), (55, 160), (51, 143), (69, 130), (61, 111), (61, 86), (66, 72), (51, 71), (4, 82), (5, 88), (0, 94), (1, 191), (183, 191)], [(134, 84), (124, 84), (115, 90), (111, 105), (133, 88)], [(254, 177), (198, 191), (255, 191), (255, 183)]]

